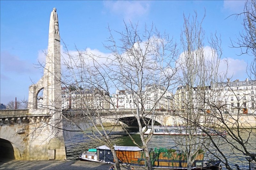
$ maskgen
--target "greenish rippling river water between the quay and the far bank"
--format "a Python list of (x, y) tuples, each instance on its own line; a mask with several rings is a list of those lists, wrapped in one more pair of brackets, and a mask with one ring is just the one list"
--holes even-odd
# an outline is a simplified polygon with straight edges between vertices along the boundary
[[(254, 133), (255, 133), (255, 130), (254, 130)], [(132, 132), (132, 137), (135, 139), (135, 141), (140, 141), (140, 135), (137, 132)], [(135, 146), (132, 143), (132, 140), (130, 139), (130, 137), (127, 134), (125, 134), (125, 132), (122, 132), (122, 131), (116, 131), (111, 133), (110, 138), (114, 145), (116, 144), (116, 145), (123, 145), (123, 146)], [(179, 136), (176, 136), (176, 138), (179, 138)], [(250, 139), (249, 143), (256, 146), (255, 136)], [(77, 159), (80, 153), (88, 150), (88, 148), (96, 148), (102, 144), (95, 142), (94, 140), (84, 136), (81, 133), (65, 141), (65, 145), (67, 148), (67, 159)], [(149, 142), (149, 146), (151, 148), (173, 147), (174, 145), (175, 143), (173, 141), (173, 137), (168, 135), (153, 135), (153, 138)], [(247, 163), (243, 155), (241, 155), (240, 153), (233, 153), (231, 149), (228, 149), (230, 148), (230, 146), (223, 145), (222, 148), (223, 148), (222, 152), (224, 152), (225, 155), (229, 155), (228, 156), (229, 164), (233, 168), (235, 168), (234, 165), (238, 162), (243, 161)], [(213, 157), (210, 154), (207, 154), (207, 153), (205, 154), (205, 157), (204, 157), (205, 160), (212, 159), (212, 158)]]

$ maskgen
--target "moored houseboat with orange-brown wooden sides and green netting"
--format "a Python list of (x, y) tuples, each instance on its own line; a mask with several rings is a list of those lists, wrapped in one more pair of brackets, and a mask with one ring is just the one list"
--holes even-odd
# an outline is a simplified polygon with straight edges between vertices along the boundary
[[(120, 164), (129, 166), (145, 166), (145, 154), (143, 149), (134, 146), (114, 146)], [(96, 151), (96, 152), (92, 152)], [(186, 156), (173, 149), (159, 148), (151, 153), (151, 162), (154, 168), (187, 169)], [(83, 161), (94, 161), (102, 163), (115, 163), (111, 150), (106, 146), (99, 146), (96, 150), (88, 150), (79, 156)], [(212, 169), (219, 170), (219, 161), (205, 161), (204, 153), (200, 153), (192, 165), (193, 170)]]

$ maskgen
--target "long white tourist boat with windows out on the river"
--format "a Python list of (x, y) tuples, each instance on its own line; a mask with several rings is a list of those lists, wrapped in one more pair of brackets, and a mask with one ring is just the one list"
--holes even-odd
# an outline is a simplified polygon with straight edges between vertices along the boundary
[[(146, 127), (142, 128), (142, 131), (144, 131)], [(148, 135), (152, 132), (152, 126), (148, 126), (148, 130), (144, 132), (145, 135)], [(216, 130), (210, 130), (209, 133), (211, 136), (225, 136), (227, 135), (226, 132), (220, 132)], [(185, 126), (154, 126), (154, 135), (188, 135), (188, 132), (186, 131)], [(192, 135), (203, 135), (206, 136), (204, 133), (201, 132), (200, 129), (196, 130), (196, 133)]]

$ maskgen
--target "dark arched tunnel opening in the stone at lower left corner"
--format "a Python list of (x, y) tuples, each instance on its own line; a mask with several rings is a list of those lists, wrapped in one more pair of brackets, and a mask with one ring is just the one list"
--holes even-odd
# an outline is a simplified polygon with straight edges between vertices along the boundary
[(12, 159), (21, 159), (19, 151), (13, 148), (10, 141), (0, 138), (0, 160), (8, 161)]

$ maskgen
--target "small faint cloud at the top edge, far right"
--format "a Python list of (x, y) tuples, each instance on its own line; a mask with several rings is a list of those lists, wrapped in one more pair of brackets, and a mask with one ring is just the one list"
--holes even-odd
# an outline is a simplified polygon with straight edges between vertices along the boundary
[(241, 13), (244, 9), (244, 3), (244, 0), (225, 0), (223, 8), (230, 12)]

